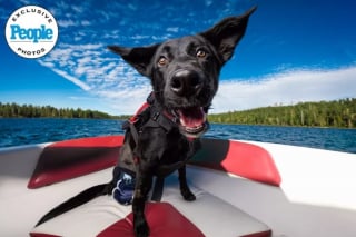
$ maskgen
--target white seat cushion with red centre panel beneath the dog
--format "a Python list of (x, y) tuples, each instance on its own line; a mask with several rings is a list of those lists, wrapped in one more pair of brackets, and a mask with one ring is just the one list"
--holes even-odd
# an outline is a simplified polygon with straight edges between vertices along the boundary
[[(271, 236), (267, 225), (207, 191), (190, 187), (197, 200), (188, 203), (179, 192), (177, 177), (170, 176), (162, 201), (147, 205), (152, 237)], [(134, 237), (131, 206), (101, 196), (33, 228), (30, 236)]]

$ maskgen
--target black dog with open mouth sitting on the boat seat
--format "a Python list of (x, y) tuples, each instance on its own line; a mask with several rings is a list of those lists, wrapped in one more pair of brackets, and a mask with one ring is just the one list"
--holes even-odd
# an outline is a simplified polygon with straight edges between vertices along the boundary
[[(226, 18), (211, 29), (162, 43), (123, 48), (110, 46), (138, 72), (148, 77), (154, 92), (148, 109), (127, 126), (120, 161), (113, 172), (113, 181), (86, 190), (87, 200), (101, 194), (111, 194), (122, 174), (134, 177), (132, 199), (134, 228), (136, 236), (149, 235), (145, 218), (145, 203), (152, 186), (154, 176), (164, 177), (178, 169), (180, 191), (186, 200), (195, 200), (186, 180), (186, 161), (198, 149), (194, 140), (207, 128), (207, 112), (218, 89), (219, 72), (234, 53), (243, 38), (250, 9), (240, 17)], [(59, 206), (68, 210), (79, 206), (78, 197)], [(77, 201), (73, 199), (77, 198)], [(130, 203), (130, 201), (129, 201)], [(63, 210), (53, 209), (40, 223)], [(39, 224), (40, 224), (39, 223)]]

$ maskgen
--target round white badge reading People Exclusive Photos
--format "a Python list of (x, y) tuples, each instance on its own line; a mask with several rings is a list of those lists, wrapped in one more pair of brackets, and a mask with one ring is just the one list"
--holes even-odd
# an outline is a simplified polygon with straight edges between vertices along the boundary
[(44, 8), (26, 6), (13, 11), (6, 26), (9, 47), (24, 58), (40, 58), (55, 47), (58, 26)]

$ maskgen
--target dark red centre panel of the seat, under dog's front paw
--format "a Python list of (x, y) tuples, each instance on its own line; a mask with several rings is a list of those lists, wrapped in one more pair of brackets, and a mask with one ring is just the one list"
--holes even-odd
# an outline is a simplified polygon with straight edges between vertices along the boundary
[[(150, 227), (150, 236), (155, 237), (204, 237), (204, 234), (172, 205), (168, 203), (149, 203), (145, 215)], [(112, 224), (97, 237), (134, 237), (134, 214)]]

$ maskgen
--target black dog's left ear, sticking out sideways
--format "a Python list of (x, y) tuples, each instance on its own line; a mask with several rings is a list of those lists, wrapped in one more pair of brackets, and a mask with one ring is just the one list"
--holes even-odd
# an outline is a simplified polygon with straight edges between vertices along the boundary
[(149, 76), (149, 65), (158, 46), (159, 45), (137, 48), (108, 46), (108, 49), (120, 55), (125, 61), (130, 63), (141, 75)]

